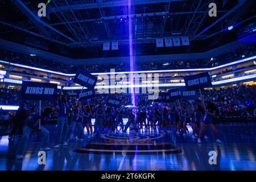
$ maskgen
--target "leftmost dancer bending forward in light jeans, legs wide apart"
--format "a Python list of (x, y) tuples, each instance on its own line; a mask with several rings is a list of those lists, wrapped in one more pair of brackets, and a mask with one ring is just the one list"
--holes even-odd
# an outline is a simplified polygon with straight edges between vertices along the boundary
[(39, 129), (39, 119), (41, 119), (41, 122), (46, 121), (48, 115), (53, 112), (53, 109), (52, 109), (52, 107), (46, 107), (43, 110), (43, 112), (41, 113), (41, 115), (39, 114), (39, 112), (35, 113), (32, 116), (32, 118), (27, 123), (24, 124), (23, 135), (22, 135), (21, 140), (19, 141), (17, 153), (15, 156), (16, 159), (24, 158), (24, 154), (25, 154), (27, 144), (28, 144), (28, 139), (30, 137), (30, 134), (33, 131), (42, 135), (42, 144), (41, 144), (40, 150), (47, 151), (47, 150), (51, 149), (48, 147), (49, 146), (49, 131), (43, 126), (41, 126)]

